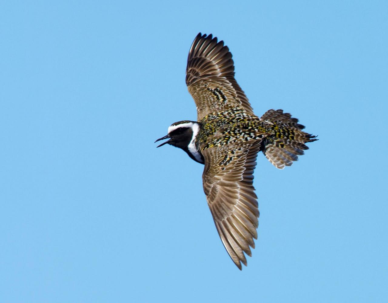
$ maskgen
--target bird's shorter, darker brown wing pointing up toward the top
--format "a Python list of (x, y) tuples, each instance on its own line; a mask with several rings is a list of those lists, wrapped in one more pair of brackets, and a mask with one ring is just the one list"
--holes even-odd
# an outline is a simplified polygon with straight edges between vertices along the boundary
[(186, 84), (196, 106), (198, 121), (210, 113), (241, 107), (253, 114), (248, 98), (234, 79), (229, 48), (217, 38), (199, 33), (187, 58)]

